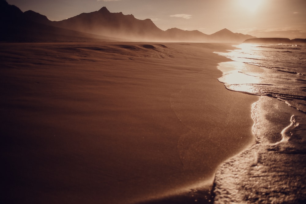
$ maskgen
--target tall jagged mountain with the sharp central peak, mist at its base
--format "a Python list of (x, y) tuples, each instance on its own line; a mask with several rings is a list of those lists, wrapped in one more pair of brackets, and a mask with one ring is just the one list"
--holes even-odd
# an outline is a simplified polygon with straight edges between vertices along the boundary
[(163, 31), (157, 28), (150, 19), (139, 20), (133, 15), (124, 15), (122, 12), (110, 13), (106, 7), (91, 13), (81, 13), (66, 20), (53, 21), (52, 25), (80, 32), (134, 40), (154, 39), (163, 34)]

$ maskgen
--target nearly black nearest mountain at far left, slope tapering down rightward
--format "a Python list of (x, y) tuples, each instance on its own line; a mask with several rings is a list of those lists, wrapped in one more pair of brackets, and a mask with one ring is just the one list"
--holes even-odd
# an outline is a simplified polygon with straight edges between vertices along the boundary
[(0, 0), (0, 41), (4, 42), (104, 42), (122, 41), (101, 35), (51, 26), (51, 21), (34, 11), (22, 12)]

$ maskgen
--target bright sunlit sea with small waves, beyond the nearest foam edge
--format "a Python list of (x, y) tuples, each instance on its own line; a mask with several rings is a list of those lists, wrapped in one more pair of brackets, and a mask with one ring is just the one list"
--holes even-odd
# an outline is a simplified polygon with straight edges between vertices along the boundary
[[(229, 53), (218, 53), (235, 61), (219, 66), (222, 72), (229, 69), (225, 66), (235, 67), (219, 79), (226, 88), (269, 95), (306, 112), (306, 45), (241, 44), (237, 48)], [(251, 69), (247, 64), (261, 69)]]

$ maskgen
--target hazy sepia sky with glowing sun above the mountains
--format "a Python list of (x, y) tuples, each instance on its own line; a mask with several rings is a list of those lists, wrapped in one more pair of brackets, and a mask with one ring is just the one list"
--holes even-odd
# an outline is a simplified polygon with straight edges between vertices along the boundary
[(223, 28), (256, 37), (306, 38), (306, 0), (7, 0), (22, 11), (63, 20), (103, 6), (153, 20), (162, 30), (212, 34)]

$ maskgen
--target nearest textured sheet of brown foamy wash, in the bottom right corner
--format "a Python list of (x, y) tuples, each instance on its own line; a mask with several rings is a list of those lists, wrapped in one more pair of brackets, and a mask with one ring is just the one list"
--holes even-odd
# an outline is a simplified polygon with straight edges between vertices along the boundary
[(262, 96), (253, 118), (258, 143), (219, 168), (215, 203), (305, 203), (304, 113)]

